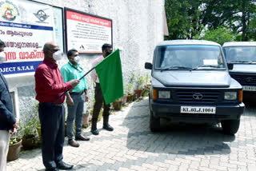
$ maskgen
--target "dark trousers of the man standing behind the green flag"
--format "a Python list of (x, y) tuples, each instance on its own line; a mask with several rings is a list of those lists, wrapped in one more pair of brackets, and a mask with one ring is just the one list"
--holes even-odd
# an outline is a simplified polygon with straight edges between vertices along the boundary
[(94, 103), (94, 112), (93, 112), (92, 119), (98, 120), (98, 114), (102, 108), (103, 103), (104, 103), (103, 119), (104, 119), (104, 117), (109, 117), (110, 116), (110, 104), (106, 105), (104, 98), (103, 98), (102, 89), (101, 89), (101, 86), (99, 85), (99, 83), (96, 83), (94, 97), (95, 97), (95, 103)]

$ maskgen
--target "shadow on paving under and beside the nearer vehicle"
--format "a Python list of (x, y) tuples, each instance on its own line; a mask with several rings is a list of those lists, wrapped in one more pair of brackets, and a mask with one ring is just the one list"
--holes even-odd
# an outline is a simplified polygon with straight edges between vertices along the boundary
[(162, 131), (149, 129), (148, 99), (134, 103), (123, 126), (129, 128), (128, 149), (176, 155), (228, 154), (235, 136), (222, 133), (218, 125), (180, 124), (161, 121)]

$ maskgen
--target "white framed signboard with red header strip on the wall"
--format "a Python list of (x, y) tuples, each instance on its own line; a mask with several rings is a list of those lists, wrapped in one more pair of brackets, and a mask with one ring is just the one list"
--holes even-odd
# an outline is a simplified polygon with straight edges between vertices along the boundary
[(102, 53), (104, 43), (112, 44), (112, 20), (65, 8), (66, 50)]

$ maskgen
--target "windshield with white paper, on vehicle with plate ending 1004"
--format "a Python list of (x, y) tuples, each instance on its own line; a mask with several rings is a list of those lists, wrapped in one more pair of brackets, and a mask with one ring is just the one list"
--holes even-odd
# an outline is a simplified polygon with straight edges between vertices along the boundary
[(155, 61), (159, 70), (223, 70), (225, 67), (219, 46), (160, 46)]

